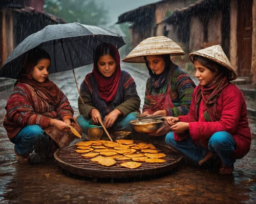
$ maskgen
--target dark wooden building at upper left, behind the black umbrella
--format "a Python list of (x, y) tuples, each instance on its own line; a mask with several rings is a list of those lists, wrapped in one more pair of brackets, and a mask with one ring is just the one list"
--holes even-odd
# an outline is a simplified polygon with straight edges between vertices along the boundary
[(66, 23), (44, 12), (44, 0), (0, 0), (0, 67), (29, 35), (48, 25)]

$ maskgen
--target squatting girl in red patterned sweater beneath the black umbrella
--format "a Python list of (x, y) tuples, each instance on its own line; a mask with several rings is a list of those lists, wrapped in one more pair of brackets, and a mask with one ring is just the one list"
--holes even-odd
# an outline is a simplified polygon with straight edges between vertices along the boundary
[(30, 163), (33, 146), (37, 147), (35, 152), (42, 150), (41, 156), (49, 156), (57, 146), (69, 145), (75, 138), (70, 126), (81, 134), (68, 99), (48, 78), (50, 63), (51, 58), (45, 50), (34, 48), (28, 51), (5, 107), (4, 127), (15, 144), (19, 164)]

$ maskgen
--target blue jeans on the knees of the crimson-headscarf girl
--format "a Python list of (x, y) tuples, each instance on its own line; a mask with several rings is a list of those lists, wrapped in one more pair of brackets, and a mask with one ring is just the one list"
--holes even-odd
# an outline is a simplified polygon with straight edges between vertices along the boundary
[[(134, 128), (133, 128), (133, 125), (130, 124), (130, 121), (136, 119), (136, 116), (138, 114), (139, 114), (138, 112), (134, 111), (134, 112), (130, 112), (130, 114), (128, 114), (121, 120), (117, 119), (113, 125), (115, 131), (131, 132)], [(78, 125), (81, 127), (82, 132), (88, 134), (88, 125), (93, 125), (92, 119), (88, 119), (88, 118), (80, 115), (80, 116), (78, 116), (76, 121), (77, 121)]]

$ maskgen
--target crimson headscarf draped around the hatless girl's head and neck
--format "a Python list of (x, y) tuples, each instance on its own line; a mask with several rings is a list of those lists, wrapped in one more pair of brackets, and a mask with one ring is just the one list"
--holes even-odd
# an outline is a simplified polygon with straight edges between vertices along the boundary
[(115, 53), (114, 59), (116, 61), (116, 71), (114, 74), (111, 77), (104, 77), (100, 74), (97, 63), (95, 62), (93, 64), (93, 74), (97, 82), (99, 97), (107, 103), (115, 98), (121, 77), (120, 55), (118, 50), (112, 44), (108, 45)]

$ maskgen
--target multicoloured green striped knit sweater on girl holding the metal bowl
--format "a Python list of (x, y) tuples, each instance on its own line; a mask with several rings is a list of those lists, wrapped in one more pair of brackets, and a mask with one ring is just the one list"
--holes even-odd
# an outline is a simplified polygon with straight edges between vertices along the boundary
[[(195, 83), (189, 75), (179, 67), (174, 70), (173, 74), (172, 70), (170, 70), (167, 77), (168, 85), (170, 85), (170, 97), (172, 98), (175, 107), (167, 108), (166, 116), (177, 117), (187, 115), (191, 104), (192, 94), (196, 87)], [(146, 96), (148, 94), (153, 96), (162, 94), (164, 92), (164, 88), (165, 86), (158, 90), (154, 89), (151, 84), (151, 77), (147, 79), (142, 112), (150, 109), (150, 101), (147, 100)], [(152, 90), (151, 93), (149, 93), (149, 90)]]

